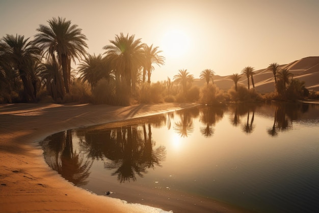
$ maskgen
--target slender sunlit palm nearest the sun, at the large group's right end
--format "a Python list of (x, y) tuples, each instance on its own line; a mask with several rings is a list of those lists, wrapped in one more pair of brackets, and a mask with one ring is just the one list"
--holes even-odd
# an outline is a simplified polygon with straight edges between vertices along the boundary
[(165, 57), (159, 56), (158, 54), (162, 51), (158, 51), (158, 46), (153, 48), (153, 44), (148, 46), (147, 44), (143, 45), (143, 54), (144, 54), (144, 66), (143, 66), (143, 82), (145, 82), (145, 76), (147, 71), (147, 82), (151, 83), (151, 74), (154, 67), (152, 63), (157, 64), (158, 66), (164, 65)]

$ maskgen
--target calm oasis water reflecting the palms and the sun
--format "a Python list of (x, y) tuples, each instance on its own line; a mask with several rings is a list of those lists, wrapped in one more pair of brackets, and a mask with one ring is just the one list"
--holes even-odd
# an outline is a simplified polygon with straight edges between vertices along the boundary
[(189, 212), (214, 200), (319, 211), (319, 105), (200, 106), (67, 130), (42, 146), (52, 169), (98, 195), (174, 212), (187, 212), (174, 207), (181, 195), (194, 197)]

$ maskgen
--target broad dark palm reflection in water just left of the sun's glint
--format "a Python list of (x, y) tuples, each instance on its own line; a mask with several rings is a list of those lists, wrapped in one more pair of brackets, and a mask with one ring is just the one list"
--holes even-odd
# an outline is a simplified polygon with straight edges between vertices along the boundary
[[(159, 147), (153, 150), (151, 125), (148, 125), (148, 134), (146, 126), (143, 124), (143, 131), (138, 126), (127, 126), (117, 128), (116, 130), (103, 130), (116, 132), (113, 138), (107, 138), (108, 150), (104, 151), (105, 157), (109, 160), (104, 162), (107, 169), (116, 169), (112, 175), (117, 175), (120, 182), (136, 181), (136, 175), (143, 177), (147, 168), (154, 168), (154, 165), (160, 165), (160, 161), (165, 158), (165, 148)], [(110, 134), (108, 134), (110, 135)], [(143, 138), (144, 135), (144, 139)], [(109, 143), (110, 142), (110, 143)], [(113, 145), (112, 145), (113, 144)]]

